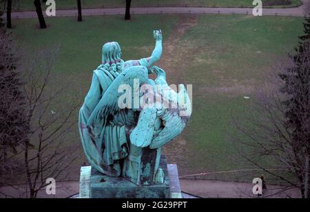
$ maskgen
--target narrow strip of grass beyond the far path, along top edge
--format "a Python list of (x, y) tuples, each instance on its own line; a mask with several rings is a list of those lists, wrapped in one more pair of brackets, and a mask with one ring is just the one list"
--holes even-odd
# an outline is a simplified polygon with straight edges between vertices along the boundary
[[(300, 0), (262, 0), (266, 7), (294, 7), (300, 5)], [(203, 6), (203, 7), (253, 7), (252, 0), (134, 0), (132, 7), (146, 6)], [(82, 0), (85, 8), (125, 7), (125, 0)], [(76, 8), (76, 0), (57, 0), (56, 8)], [(15, 9), (34, 10), (33, 0), (23, 0), (16, 3)]]

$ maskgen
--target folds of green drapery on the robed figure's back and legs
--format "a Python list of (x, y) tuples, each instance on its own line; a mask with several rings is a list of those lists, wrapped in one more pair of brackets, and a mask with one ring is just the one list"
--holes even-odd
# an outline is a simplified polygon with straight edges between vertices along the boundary
[(79, 132), (83, 150), (90, 164), (103, 174), (119, 176), (121, 166), (118, 160), (128, 154), (125, 126), (101, 120), (94, 123), (91, 130), (87, 128), (87, 120), (92, 111), (118, 75), (100, 68), (94, 71), (90, 91), (79, 112)]

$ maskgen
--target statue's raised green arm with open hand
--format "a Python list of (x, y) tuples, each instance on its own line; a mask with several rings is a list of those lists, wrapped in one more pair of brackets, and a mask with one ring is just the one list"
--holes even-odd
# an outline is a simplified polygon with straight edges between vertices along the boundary
[(161, 59), (161, 54), (163, 52), (163, 35), (161, 33), (161, 30), (154, 30), (153, 36), (156, 43), (152, 55), (148, 58), (142, 58), (140, 60), (127, 60), (124, 64), (124, 69), (126, 69), (127, 67), (141, 65), (147, 67), (148, 72), (152, 73), (152, 65)]

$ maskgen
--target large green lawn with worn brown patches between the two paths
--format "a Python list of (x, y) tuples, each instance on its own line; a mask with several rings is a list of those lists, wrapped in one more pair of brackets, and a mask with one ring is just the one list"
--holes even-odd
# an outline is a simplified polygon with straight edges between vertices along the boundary
[[(68, 85), (68, 95), (81, 101), (92, 70), (101, 61), (103, 43), (118, 41), (124, 60), (143, 58), (152, 52), (152, 30), (163, 30), (163, 57), (158, 64), (166, 70), (167, 81), (193, 84), (189, 124), (165, 148), (168, 162), (178, 163), (180, 175), (247, 168), (227, 141), (227, 132), (234, 133), (230, 116), (244, 118), (243, 110), (250, 110), (256, 86), (274, 71), (276, 60), (292, 51), (302, 34), (302, 18), (280, 16), (136, 15), (130, 22), (121, 16), (92, 16), (82, 23), (74, 17), (47, 23), (48, 29), (39, 30), (37, 19), (15, 20), (12, 32), (27, 51), (60, 45), (54, 72), (57, 84)], [(244, 99), (245, 95), (250, 99)], [(75, 136), (81, 148), (77, 129)], [(81, 157), (76, 165), (83, 161)], [(251, 180), (251, 176), (241, 178)]]

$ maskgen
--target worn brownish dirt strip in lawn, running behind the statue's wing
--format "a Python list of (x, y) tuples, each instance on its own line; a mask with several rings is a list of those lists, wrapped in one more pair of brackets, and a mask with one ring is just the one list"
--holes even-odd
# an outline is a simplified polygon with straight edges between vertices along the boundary
[[(163, 56), (158, 66), (166, 71), (168, 84), (185, 83), (185, 69), (183, 64), (193, 60), (193, 54), (186, 51), (186, 44), (180, 40), (183, 35), (198, 23), (196, 15), (180, 15), (180, 21), (174, 28), (171, 36), (164, 40)], [(180, 173), (185, 173), (187, 167), (187, 142), (181, 134), (174, 141), (167, 143), (163, 148), (168, 163), (177, 163)], [(184, 170), (184, 171), (183, 171)]]

